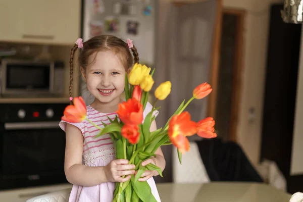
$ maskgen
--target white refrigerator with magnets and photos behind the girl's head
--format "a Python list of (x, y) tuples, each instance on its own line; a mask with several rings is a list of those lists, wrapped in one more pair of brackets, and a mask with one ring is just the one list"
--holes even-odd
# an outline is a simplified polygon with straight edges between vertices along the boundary
[[(158, 0), (83, 0), (83, 41), (95, 35), (110, 34), (133, 40), (139, 62), (148, 67), (155, 64), (156, 14)], [(81, 96), (90, 105), (93, 97), (81, 78)]]

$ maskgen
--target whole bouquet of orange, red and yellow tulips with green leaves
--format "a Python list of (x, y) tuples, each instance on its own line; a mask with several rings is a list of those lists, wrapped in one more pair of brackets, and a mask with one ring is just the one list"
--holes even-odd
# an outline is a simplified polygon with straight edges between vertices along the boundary
[[(151, 189), (146, 181), (138, 181), (145, 170), (156, 170), (162, 176), (162, 170), (154, 164), (142, 166), (141, 162), (156, 157), (155, 151), (162, 145), (173, 144), (177, 147), (179, 161), (181, 163), (182, 153), (189, 150), (189, 141), (186, 136), (197, 134), (204, 138), (216, 137), (214, 133), (215, 121), (213, 118), (206, 118), (199, 122), (191, 120), (188, 112), (183, 112), (193, 99), (206, 97), (212, 88), (208, 83), (202, 83), (193, 90), (193, 96), (179, 108), (167, 121), (163, 128), (156, 131), (149, 131), (151, 123), (154, 121), (153, 115), (157, 100), (165, 99), (171, 91), (171, 82), (166, 81), (160, 84), (155, 90), (156, 100), (153, 109), (143, 120), (143, 111), (147, 104), (148, 95), (154, 85), (155, 69), (150, 73), (150, 68), (145, 65), (135, 64), (125, 76), (125, 102), (119, 104), (115, 120), (111, 120), (110, 125), (103, 123), (104, 128), (100, 128), (100, 133), (96, 136), (110, 134), (116, 148), (117, 159), (128, 159), (129, 164), (136, 165), (137, 174), (131, 176), (127, 182), (116, 183), (113, 201), (156, 201)], [(63, 120), (86, 119), (85, 115), (79, 115), (78, 111), (84, 111), (82, 97), (74, 99), (74, 105), (68, 106), (64, 111)], [(86, 111), (85, 111), (86, 112)], [(76, 119), (75, 119), (76, 118)], [(87, 119), (88, 120), (88, 119)], [(89, 121), (89, 120), (88, 120)], [(89, 121), (90, 122), (90, 121)], [(92, 122), (90, 122), (92, 123)], [(93, 124), (93, 123), (92, 123)]]

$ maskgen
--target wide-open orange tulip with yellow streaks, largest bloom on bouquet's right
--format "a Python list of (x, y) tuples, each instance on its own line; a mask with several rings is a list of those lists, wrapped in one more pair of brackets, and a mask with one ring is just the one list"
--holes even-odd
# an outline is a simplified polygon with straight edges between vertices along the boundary
[(169, 122), (168, 136), (181, 153), (189, 151), (189, 141), (186, 136), (197, 132), (197, 124), (190, 120), (188, 112), (175, 115)]

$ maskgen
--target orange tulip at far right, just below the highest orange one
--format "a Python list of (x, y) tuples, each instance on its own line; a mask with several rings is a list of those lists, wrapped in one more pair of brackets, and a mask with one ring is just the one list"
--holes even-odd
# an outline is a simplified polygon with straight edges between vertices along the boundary
[(205, 118), (197, 123), (197, 135), (204, 138), (217, 137), (215, 131), (215, 121), (212, 117)]

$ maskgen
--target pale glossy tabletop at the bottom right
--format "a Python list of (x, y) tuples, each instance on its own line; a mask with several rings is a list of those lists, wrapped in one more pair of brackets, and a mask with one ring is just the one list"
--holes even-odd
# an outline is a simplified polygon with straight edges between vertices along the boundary
[(288, 202), (291, 194), (260, 183), (159, 183), (162, 202)]

